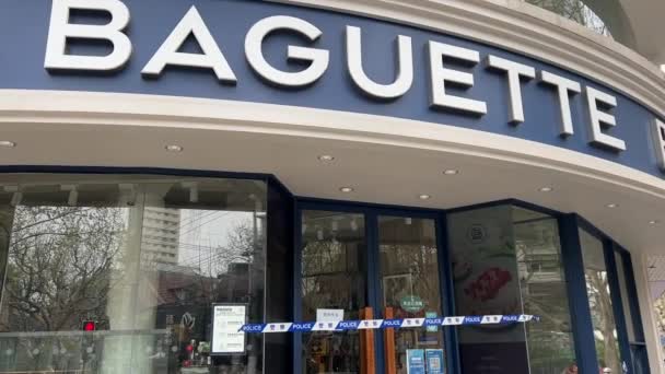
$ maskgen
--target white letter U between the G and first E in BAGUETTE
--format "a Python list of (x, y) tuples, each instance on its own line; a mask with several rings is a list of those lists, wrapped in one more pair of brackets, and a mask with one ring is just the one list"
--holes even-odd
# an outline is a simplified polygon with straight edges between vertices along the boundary
[(347, 63), (353, 83), (363, 92), (377, 98), (397, 98), (409, 91), (413, 83), (413, 51), (411, 38), (399, 35), (397, 37), (397, 56), (399, 71), (397, 79), (390, 84), (380, 84), (372, 81), (362, 67), (362, 42), (360, 28), (347, 26)]

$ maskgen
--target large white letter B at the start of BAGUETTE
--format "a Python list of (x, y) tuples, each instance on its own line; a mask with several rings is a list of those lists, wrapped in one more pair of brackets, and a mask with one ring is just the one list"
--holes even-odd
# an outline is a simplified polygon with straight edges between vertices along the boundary
[[(70, 23), (72, 9), (110, 13), (105, 25)], [(52, 0), (50, 26), (46, 44), (46, 69), (113, 71), (120, 69), (131, 56), (131, 42), (122, 33), (129, 24), (129, 10), (118, 0)], [(113, 51), (107, 56), (81, 56), (67, 54), (67, 39), (107, 40)]]

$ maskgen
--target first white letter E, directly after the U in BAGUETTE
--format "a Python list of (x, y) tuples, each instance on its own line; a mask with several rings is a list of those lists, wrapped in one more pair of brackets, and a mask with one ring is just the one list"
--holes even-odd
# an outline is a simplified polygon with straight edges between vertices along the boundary
[(446, 69), (443, 67), (443, 57), (478, 63), (480, 55), (476, 50), (451, 46), (447, 44), (431, 42), (430, 51), (430, 72), (431, 72), (431, 107), (448, 108), (468, 112), (477, 115), (487, 114), (485, 102), (448, 95), (445, 92), (445, 82), (453, 82), (463, 86), (474, 86), (474, 75), (458, 70)]

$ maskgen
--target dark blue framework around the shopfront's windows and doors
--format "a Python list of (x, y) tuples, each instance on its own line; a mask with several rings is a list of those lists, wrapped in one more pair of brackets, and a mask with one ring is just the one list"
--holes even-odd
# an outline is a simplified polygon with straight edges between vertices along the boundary
[[(442, 293), (443, 312), (445, 315), (453, 315), (455, 311), (455, 301), (453, 292), (453, 279), (452, 279), (452, 264), (450, 258), (450, 249), (447, 244), (447, 214), (458, 211), (468, 211), (480, 208), (489, 208), (502, 204), (513, 204), (516, 207), (530, 209), (534, 211), (542, 212), (556, 218), (559, 222), (559, 232), (561, 239), (561, 250), (563, 257), (563, 267), (568, 283), (569, 291), (569, 303), (571, 308), (571, 322), (573, 324), (573, 336), (575, 341), (575, 355), (578, 357), (578, 363), (580, 365), (581, 373), (596, 373), (598, 371), (596, 363), (595, 343), (593, 340), (593, 325), (591, 320), (591, 312), (588, 308), (588, 297), (586, 295), (586, 282), (584, 279), (584, 265), (582, 261), (582, 248), (580, 243), (580, 236), (578, 230), (581, 227), (592, 235), (596, 236), (604, 243), (605, 259), (607, 271), (609, 274), (609, 282), (611, 288), (611, 302), (615, 308), (615, 322), (617, 324), (617, 331), (619, 335), (619, 343), (621, 350), (621, 359), (630, 363), (629, 367), (633, 367), (632, 355), (630, 354), (631, 346), (645, 346), (644, 331), (641, 320), (641, 314), (638, 303), (637, 285), (634, 281), (634, 273), (632, 267), (632, 259), (628, 250), (621, 247), (618, 243), (614, 242), (608, 235), (603, 233), (596, 226), (591, 224), (578, 214), (563, 214), (561, 212), (542, 208), (529, 202), (506, 199), (493, 202), (479, 203), (469, 207), (440, 210), (440, 209), (423, 209), (423, 208), (409, 208), (409, 207), (397, 207), (397, 206), (385, 206), (375, 203), (360, 203), (350, 201), (338, 201), (338, 200), (326, 200), (326, 199), (313, 199), (313, 198), (299, 198), (293, 196), (290, 190), (281, 184), (281, 182), (271, 174), (260, 173), (226, 173), (215, 171), (192, 171), (192, 170), (174, 170), (174, 168), (158, 168), (158, 167), (97, 167), (97, 166), (40, 166), (40, 165), (24, 165), (24, 166), (0, 166), (0, 174), (9, 173), (50, 173), (50, 174), (143, 174), (143, 175), (173, 175), (173, 176), (191, 176), (191, 177), (211, 177), (211, 178), (242, 178), (242, 179), (255, 179), (266, 182), (268, 186), (272, 186), (280, 194), (285, 197), (292, 207), (293, 211), (293, 303), (292, 303), (292, 316), (294, 320), (301, 320), (301, 212), (302, 210), (330, 210), (340, 212), (359, 212), (365, 214), (366, 223), (369, 220), (373, 220), (375, 223), (378, 214), (385, 215), (408, 215), (408, 217), (423, 217), (433, 218), (436, 222), (436, 234), (439, 245), (439, 260), (440, 260), (440, 290)], [(376, 225), (374, 224), (374, 230)], [(377, 260), (377, 254), (373, 252), (377, 250), (377, 233), (371, 232), (370, 224), (365, 224), (368, 231), (368, 256), (370, 260)], [(618, 287), (617, 267), (616, 259), (614, 257), (615, 250), (619, 252), (623, 259), (623, 268), (626, 271), (625, 278), (627, 280), (628, 295), (621, 295), (620, 288)], [(610, 258), (611, 257), (611, 258)], [(368, 269), (369, 282), (380, 283), (377, 281), (377, 268)], [(380, 284), (369, 284), (369, 301), (372, 301), (375, 305), (377, 300), (377, 287)], [(628, 341), (626, 332), (626, 313), (622, 309), (622, 303), (620, 297), (629, 297), (629, 305), (631, 308), (631, 316), (633, 318), (633, 326), (635, 328), (637, 340), (641, 341)], [(447, 364), (452, 373), (459, 373), (459, 358), (457, 352), (457, 336), (454, 328), (445, 329), (445, 342), (448, 354), (446, 357)], [(376, 340), (376, 347), (380, 340)], [(292, 341), (292, 358), (293, 358), (293, 372), (302, 372), (302, 360), (301, 360), (301, 337), (300, 334), (293, 334)], [(376, 349), (377, 357), (376, 362), (378, 369), (383, 369), (383, 349)], [(644, 361), (648, 361), (646, 353), (644, 352)], [(644, 373), (649, 373), (649, 365), (644, 365)], [(382, 371), (380, 371), (381, 373)]]

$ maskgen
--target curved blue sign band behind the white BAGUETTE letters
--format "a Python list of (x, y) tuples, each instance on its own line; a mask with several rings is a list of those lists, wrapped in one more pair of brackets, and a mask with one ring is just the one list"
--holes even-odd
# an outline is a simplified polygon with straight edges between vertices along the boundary
[[(131, 23), (127, 34), (133, 44), (133, 55), (129, 65), (114, 74), (81, 74), (49, 73), (44, 69), (50, 1), (0, 1), (0, 89), (194, 96), (409, 118), (547, 143), (614, 161), (661, 178), (665, 177), (656, 165), (650, 132), (655, 118), (652, 112), (611, 87), (532, 58), (410, 26), (262, 1), (125, 0), (124, 2), (131, 12)], [(236, 85), (220, 84), (212, 71), (208, 70), (167, 68), (159, 79), (141, 77), (141, 69), (192, 4), (196, 4), (202, 14), (237, 75)], [(299, 90), (279, 89), (266, 84), (250, 70), (244, 57), (245, 34), (258, 20), (271, 15), (302, 17), (324, 32), (323, 37), (314, 45), (290, 34), (272, 35), (265, 43), (268, 59), (275, 66), (288, 70), (302, 69), (302, 66), (285, 62), (285, 48), (289, 44), (330, 50), (330, 67), (314, 85)], [(77, 16), (81, 17), (78, 22), (86, 22), (91, 17), (89, 14)], [(396, 101), (381, 102), (364, 96), (355, 89), (346, 68), (345, 27), (347, 25), (362, 28), (365, 70), (370, 77), (380, 82), (390, 82), (394, 78), (396, 36), (401, 34), (412, 37), (416, 79), (405, 96)], [(492, 54), (533, 66), (538, 70), (546, 69), (573, 79), (583, 86), (594, 86), (616, 95), (618, 106), (611, 113), (617, 117), (618, 126), (607, 132), (625, 140), (628, 150), (617, 153), (588, 144), (588, 113), (586, 100), (582, 94), (571, 98), (575, 135), (568, 139), (559, 137), (561, 119), (557, 93), (552, 87), (539, 84), (537, 80), (523, 82), (522, 85), (525, 122), (518, 126), (510, 125), (505, 75), (487, 70), (483, 62), (475, 68), (451, 66), (454, 69), (472, 72), (476, 79), (476, 85), (468, 92), (451, 90), (451, 93), (487, 102), (487, 115), (474, 117), (431, 109), (429, 107), (430, 73), (425, 50), (428, 40), (478, 50), (481, 60)], [(191, 47), (191, 50), (196, 50), (196, 47)], [(72, 51), (104, 52), (97, 47), (85, 44), (73, 45)]]

